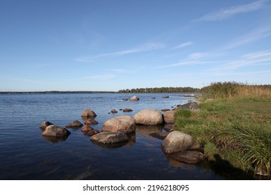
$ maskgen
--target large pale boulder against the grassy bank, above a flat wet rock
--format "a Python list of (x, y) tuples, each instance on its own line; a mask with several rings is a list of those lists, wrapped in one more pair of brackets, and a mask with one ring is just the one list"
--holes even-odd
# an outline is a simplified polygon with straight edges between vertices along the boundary
[(179, 131), (170, 132), (162, 143), (162, 150), (165, 153), (197, 150), (199, 148), (199, 143), (192, 136)]

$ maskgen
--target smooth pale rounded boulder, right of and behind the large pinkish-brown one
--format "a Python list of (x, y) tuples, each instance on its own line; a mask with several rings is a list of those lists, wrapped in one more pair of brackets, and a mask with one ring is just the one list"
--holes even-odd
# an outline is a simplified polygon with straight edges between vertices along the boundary
[(135, 116), (136, 124), (140, 125), (161, 125), (163, 123), (163, 116), (157, 109), (143, 109)]

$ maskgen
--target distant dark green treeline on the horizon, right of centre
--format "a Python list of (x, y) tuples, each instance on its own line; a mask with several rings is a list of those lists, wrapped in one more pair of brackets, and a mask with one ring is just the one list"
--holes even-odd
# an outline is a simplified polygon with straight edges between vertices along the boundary
[(192, 87), (146, 87), (136, 89), (120, 89), (118, 93), (183, 93), (199, 91), (200, 89)]

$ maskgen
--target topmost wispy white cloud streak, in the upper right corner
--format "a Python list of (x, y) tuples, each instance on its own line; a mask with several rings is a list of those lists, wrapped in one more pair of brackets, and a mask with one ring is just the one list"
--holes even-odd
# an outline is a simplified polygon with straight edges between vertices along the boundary
[(240, 6), (233, 6), (231, 8), (221, 9), (216, 12), (211, 12), (206, 15), (202, 15), (202, 17), (197, 19), (197, 21), (217, 21), (229, 19), (230, 17), (233, 17), (234, 15), (238, 15), (240, 13), (259, 10), (265, 6), (266, 2), (267, 2), (266, 0), (258, 0)]

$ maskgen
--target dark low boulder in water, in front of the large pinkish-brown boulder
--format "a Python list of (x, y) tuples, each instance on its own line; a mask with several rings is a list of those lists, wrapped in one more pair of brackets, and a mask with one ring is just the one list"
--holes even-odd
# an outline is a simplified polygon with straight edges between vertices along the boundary
[(124, 143), (129, 141), (128, 136), (123, 132), (101, 132), (91, 136), (91, 141), (96, 143)]

